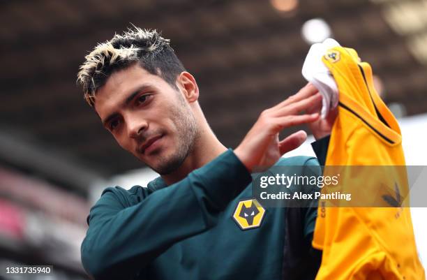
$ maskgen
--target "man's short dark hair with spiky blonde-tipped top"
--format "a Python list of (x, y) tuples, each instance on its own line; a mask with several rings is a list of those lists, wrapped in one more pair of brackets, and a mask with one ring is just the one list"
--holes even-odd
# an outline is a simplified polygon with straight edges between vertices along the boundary
[(153, 75), (158, 75), (177, 88), (177, 75), (186, 71), (165, 39), (156, 30), (133, 26), (111, 40), (99, 43), (85, 57), (77, 73), (77, 83), (84, 91), (84, 99), (93, 107), (96, 91), (102, 87), (114, 71), (139, 63)]

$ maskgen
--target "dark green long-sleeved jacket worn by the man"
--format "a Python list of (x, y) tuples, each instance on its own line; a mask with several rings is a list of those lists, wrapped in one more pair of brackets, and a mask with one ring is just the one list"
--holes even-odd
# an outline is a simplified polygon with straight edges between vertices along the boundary
[[(280, 165), (318, 165), (296, 156)], [(267, 208), (260, 227), (232, 218), (252, 198), (251, 176), (232, 150), (180, 182), (107, 188), (91, 208), (82, 243), (94, 279), (314, 279), (316, 208)]]

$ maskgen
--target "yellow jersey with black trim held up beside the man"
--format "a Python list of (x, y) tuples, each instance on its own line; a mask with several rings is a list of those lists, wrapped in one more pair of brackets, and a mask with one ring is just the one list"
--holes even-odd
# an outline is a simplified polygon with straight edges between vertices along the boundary
[[(334, 75), (340, 101), (325, 175), (334, 165), (405, 165), (400, 128), (373, 87), (369, 64), (345, 47), (334, 47), (322, 60)], [(359, 186), (354, 195), (364, 196), (366, 203), (381, 206), (387, 202), (380, 192), (393, 193), (396, 185), (406, 198), (403, 207), (330, 207), (336, 205), (320, 200), (313, 246), (323, 252), (316, 280), (425, 279), (407, 207), (406, 171), (396, 168), (391, 175), (387, 170), (375, 176), (354, 171), (340, 180), (346, 187)]]

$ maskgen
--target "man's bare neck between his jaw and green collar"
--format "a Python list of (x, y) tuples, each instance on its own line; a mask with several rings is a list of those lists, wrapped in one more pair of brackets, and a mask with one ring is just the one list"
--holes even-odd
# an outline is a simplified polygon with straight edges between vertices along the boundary
[(209, 163), (227, 148), (221, 144), (209, 127), (200, 131), (200, 136), (195, 140), (193, 150), (188, 154), (182, 165), (174, 172), (162, 175), (167, 185), (174, 184), (187, 177), (188, 173)]

